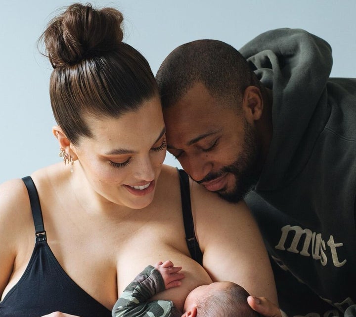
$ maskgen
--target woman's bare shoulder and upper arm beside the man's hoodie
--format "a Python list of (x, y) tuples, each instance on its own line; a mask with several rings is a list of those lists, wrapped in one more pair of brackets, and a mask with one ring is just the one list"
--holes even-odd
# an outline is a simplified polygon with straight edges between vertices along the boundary
[(246, 204), (223, 201), (191, 183), (191, 200), (203, 266), (213, 281), (232, 281), (278, 305), (261, 233)]

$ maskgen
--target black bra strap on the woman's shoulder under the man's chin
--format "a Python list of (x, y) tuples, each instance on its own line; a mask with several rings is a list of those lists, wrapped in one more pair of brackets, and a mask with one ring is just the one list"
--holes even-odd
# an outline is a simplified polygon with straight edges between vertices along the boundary
[(191, 212), (189, 177), (182, 169), (178, 169), (180, 182), (180, 197), (183, 211), (183, 221), (185, 229), (185, 240), (193, 260), (203, 264), (203, 254), (201, 253), (198, 241), (195, 237), (194, 220)]

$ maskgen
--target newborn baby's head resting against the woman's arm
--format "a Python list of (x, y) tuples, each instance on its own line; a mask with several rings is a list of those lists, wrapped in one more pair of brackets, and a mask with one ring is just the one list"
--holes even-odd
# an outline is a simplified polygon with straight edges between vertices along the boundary
[(182, 317), (259, 317), (247, 303), (249, 293), (233, 282), (198, 286), (185, 299)]

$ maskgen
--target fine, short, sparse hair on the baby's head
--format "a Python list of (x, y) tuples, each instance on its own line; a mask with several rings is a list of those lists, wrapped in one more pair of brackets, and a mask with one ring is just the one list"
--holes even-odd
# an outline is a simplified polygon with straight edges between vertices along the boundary
[(210, 292), (197, 302), (197, 317), (260, 317), (247, 303), (249, 293), (240, 285), (228, 286)]

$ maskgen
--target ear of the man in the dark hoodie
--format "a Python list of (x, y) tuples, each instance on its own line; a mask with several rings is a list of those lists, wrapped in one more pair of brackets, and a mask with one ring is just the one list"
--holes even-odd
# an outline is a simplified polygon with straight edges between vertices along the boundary
[(263, 98), (261, 90), (256, 86), (248, 86), (243, 94), (242, 107), (249, 123), (259, 120), (263, 112)]

